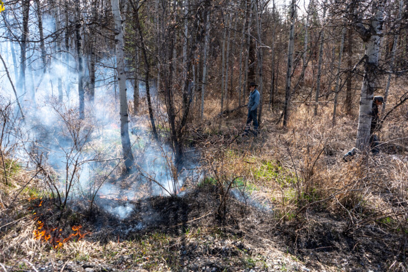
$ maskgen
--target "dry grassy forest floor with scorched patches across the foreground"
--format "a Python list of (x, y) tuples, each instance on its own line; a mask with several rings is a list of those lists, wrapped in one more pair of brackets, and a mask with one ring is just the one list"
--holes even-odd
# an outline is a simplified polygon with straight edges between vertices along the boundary
[[(1, 182), (0, 270), (406, 271), (406, 214), (399, 209), (406, 201), (396, 201), (406, 196), (405, 187), (397, 194), (407, 182), (405, 150), (393, 143), (369, 160), (344, 162), (355, 120), (339, 116), (341, 125), (322, 130), (328, 118), (305, 121), (301, 111), (291, 129), (264, 125), (258, 138), (236, 137), (242, 113), (228, 117), (222, 133), (198, 131), (202, 163), (227, 167), (208, 169), (209, 179), (186, 184), (176, 198), (98, 199), (91, 211), (77, 201), (60, 211), (38, 180), (24, 188), (33, 173), (16, 171), (9, 185)], [(386, 171), (372, 176), (379, 167)], [(223, 218), (215, 174), (245, 177), (236, 186), (244, 193), (233, 191)], [(350, 175), (364, 182), (346, 183)], [(104, 202), (133, 210), (120, 219), (98, 208)]]

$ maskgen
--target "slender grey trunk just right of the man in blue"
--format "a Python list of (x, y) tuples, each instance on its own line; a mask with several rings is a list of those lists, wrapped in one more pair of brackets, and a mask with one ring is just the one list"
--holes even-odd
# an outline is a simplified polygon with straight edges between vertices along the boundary
[(290, 81), (292, 74), (292, 64), (293, 64), (293, 43), (294, 43), (294, 28), (295, 28), (295, 9), (296, 1), (292, 0), (291, 11), (290, 11), (290, 30), (289, 30), (289, 42), (288, 42), (288, 66), (286, 69), (286, 88), (285, 88), (285, 105), (283, 111), (283, 126), (286, 127), (289, 119), (289, 102), (290, 102)]

